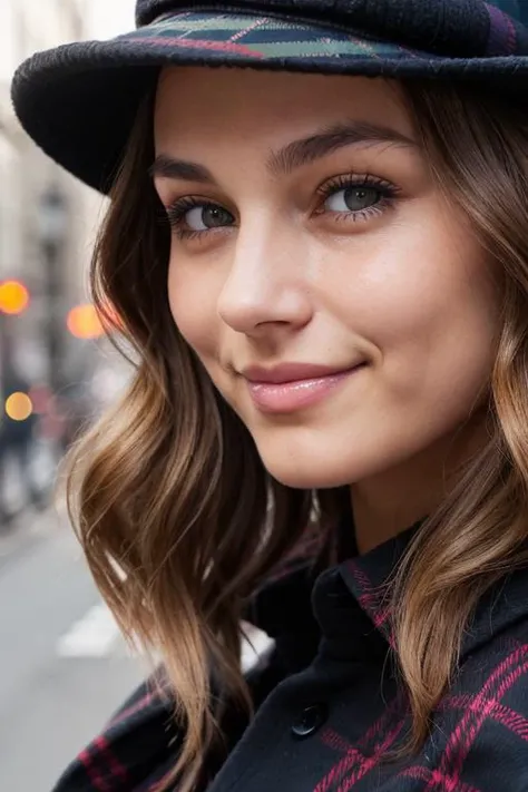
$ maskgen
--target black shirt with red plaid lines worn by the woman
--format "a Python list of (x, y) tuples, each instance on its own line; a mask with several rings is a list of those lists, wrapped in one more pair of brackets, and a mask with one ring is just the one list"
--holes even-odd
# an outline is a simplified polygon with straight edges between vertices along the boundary
[[(380, 587), (413, 530), (316, 575), (293, 568), (255, 597), (253, 620), (275, 641), (250, 679), (256, 715), (250, 724), (226, 716), (227, 756), (204, 760), (202, 789), (528, 791), (528, 571), (506, 576), (480, 602), (421, 752), (387, 761), (410, 720)], [(55, 792), (156, 792), (179, 739), (147, 681)]]

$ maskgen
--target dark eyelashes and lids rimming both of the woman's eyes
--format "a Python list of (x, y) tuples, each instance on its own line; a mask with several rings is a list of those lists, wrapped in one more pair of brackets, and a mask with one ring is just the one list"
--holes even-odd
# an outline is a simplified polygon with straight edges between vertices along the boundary
[[(373, 206), (369, 206), (364, 209), (359, 209), (356, 212), (354, 212), (353, 209), (349, 209), (348, 212), (341, 213), (330, 212), (330, 214), (334, 215), (334, 219), (336, 222), (349, 221), (352, 223), (358, 223), (362, 221), (364, 222), (373, 215), (380, 215), (393, 205), (395, 197), (400, 193), (400, 189), (395, 185), (370, 174), (365, 174), (363, 176), (358, 176), (356, 174), (336, 176), (335, 178), (330, 179), (330, 182), (326, 182), (321, 187), (317, 187), (317, 189), (315, 190), (316, 194), (321, 197), (321, 206), (323, 207), (323, 211), (316, 209), (315, 214), (325, 214), (324, 203), (330, 197), (332, 197), (332, 195), (350, 187), (375, 188), (380, 193), (381, 198)], [(165, 213), (169, 226), (173, 233), (176, 234), (178, 239), (190, 241), (196, 237), (203, 237), (204, 235), (207, 235), (209, 231), (218, 231), (223, 227), (232, 227), (217, 226), (216, 228), (209, 228), (208, 231), (188, 231), (187, 228), (182, 227), (182, 221), (185, 214), (189, 209), (194, 209), (197, 206), (201, 206), (202, 208), (205, 208), (207, 206), (224, 208), (221, 204), (216, 204), (213, 201), (204, 201), (203, 198), (194, 197), (192, 195), (175, 201), (173, 204), (166, 207)], [(228, 212), (228, 214), (232, 213)]]

